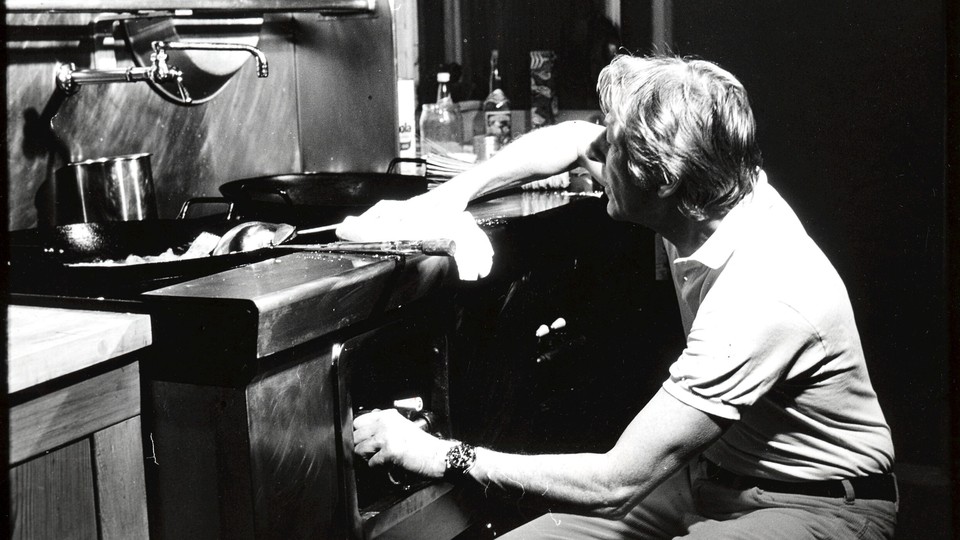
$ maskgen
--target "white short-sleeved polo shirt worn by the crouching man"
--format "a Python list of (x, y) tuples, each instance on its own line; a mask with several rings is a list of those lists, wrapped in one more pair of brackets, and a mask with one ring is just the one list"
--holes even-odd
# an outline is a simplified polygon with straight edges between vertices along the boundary
[(738, 420), (705, 452), (730, 471), (777, 480), (888, 472), (890, 428), (846, 288), (760, 176), (692, 256), (664, 241), (687, 343), (663, 387)]

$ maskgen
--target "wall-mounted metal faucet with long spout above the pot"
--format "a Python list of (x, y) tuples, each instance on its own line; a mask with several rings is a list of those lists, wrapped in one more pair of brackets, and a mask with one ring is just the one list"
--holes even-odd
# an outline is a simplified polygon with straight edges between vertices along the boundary
[(150, 65), (145, 67), (130, 67), (127, 69), (77, 69), (73, 63), (61, 64), (57, 67), (57, 86), (67, 95), (80, 91), (80, 87), (87, 84), (107, 84), (115, 82), (153, 81), (154, 83), (175, 82), (184, 103), (193, 100), (183, 85), (183, 72), (167, 64), (168, 50), (195, 50), (195, 51), (241, 51), (248, 52), (257, 59), (257, 77), (266, 77), (269, 73), (267, 57), (263, 52), (252, 46), (239, 43), (184, 43), (179, 41), (154, 41), (153, 53), (150, 55)]

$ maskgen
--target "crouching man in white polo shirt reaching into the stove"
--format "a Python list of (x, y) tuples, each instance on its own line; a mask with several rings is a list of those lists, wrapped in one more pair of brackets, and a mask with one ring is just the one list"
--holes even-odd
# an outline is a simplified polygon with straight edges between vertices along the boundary
[(356, 452), (575, 512), (506, 538), (892, 538), (893, 446), (848, 295), (760, 170), (745, 90), (709, 62), (627, 56), (598, 89), (605, 128), (535, 131), (381, 218), (586, 167), (612, 218), (664, 239), (687, 336), (668, 379), (603, 454), (474, 449), (392, 410), (356, 420)]

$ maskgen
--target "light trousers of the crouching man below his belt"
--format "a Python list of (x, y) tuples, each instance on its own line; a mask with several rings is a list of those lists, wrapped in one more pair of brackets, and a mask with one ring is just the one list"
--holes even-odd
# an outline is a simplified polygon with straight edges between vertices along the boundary
[(694, 461), (661, 484), (626, 517), (609, 520), (547, 513), (504, 540), (890, 540), (897, 504), (873, 499), (731, 489)]

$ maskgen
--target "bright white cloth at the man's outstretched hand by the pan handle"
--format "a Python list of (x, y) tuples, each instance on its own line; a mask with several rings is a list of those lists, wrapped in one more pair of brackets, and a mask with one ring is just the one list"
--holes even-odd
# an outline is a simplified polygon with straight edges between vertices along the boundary
[(460, 279), (486, 277), (493, 266), (493, 246), (469, 212), (449, 211), (412, 201), (380, 201), (360, 216), (348, 216), (337, 236), (353, 242), (435, 240), (456, 243), (453, 255)]

